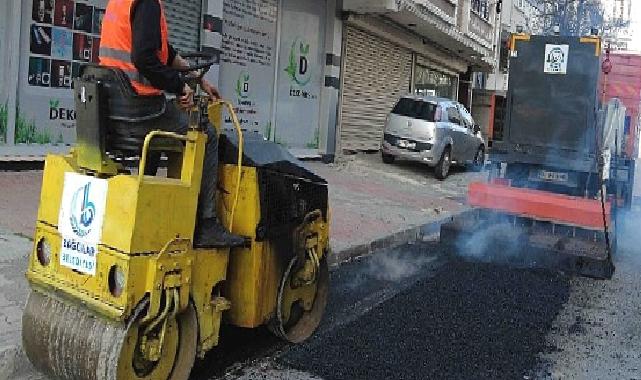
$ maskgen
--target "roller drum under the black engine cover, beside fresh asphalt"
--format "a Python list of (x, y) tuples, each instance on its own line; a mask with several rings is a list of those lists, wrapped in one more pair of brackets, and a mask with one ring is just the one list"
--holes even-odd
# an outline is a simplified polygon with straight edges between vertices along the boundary
[[(309, 338), (321, 322), (329, 292), (327, 259), (309, 260), (298, 266), (294, 257), (283, 273), (278, 288), (276, 317), (269, 324), (279, 338), (301, 343)], [(309, 278), (310, 266), (317, 269)]]

